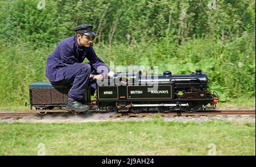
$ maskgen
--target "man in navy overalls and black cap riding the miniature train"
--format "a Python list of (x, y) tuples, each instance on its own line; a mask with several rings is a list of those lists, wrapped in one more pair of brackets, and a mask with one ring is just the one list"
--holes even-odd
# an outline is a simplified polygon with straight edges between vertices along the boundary
[[(83, 112), (89, 110), (85, 102), (85, 90), (88, 85), (94, 94), (95, 80), (113, 77), (109, 67), (97, 57), (92, 41), (96, 36), (93, 26), (82, 24), (74, 31), (76, 35), (60, 41), (46, 62), (46, 77), (53, 85), (73, 83), (68, 92), (66, 110)], [(89, 62), (82, 63), (84, 59)]]

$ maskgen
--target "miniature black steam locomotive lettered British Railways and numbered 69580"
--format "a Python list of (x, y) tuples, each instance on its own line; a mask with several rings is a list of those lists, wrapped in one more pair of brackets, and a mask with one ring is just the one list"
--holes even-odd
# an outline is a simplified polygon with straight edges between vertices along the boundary
[[(114, 83), (114, 84), (113, 84)], [(196, 70), (187, 75), (117, 73), (112, 80), (97, 87), (97, 105), (108, 110), (142, 112), (156, 108), (161, 112), (182, 110), (196, 112), (216, 105), (216, 97), (207, 91), (207, 74)]]

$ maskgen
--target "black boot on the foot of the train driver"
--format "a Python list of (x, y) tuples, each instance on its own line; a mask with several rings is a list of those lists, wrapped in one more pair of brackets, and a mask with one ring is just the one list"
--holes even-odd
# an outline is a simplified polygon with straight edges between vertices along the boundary
[(76, 112), (84, 112), (89, 109), (90, 109), (90, 107), (88, 105), (82, 105), (81, 102), (76, 101), (75, 99), (68, 98), (68, 104), (66, 106), (66, 110), (76, 111)]

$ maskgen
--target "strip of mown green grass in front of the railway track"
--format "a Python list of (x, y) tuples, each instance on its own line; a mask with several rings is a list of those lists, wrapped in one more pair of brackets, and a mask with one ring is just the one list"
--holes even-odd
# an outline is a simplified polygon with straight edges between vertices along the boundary
[(255, 155), (255, 124), (148, 121), (0, 123), (0, 155)]

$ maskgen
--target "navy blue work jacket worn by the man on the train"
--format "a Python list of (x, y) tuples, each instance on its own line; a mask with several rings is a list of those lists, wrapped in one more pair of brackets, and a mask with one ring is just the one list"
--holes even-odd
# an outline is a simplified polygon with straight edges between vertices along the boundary
[(97, 57), (92, 44), (90, 47), (79, 48), (77, 37), (72, 36), (60, 41), (55, 50), (49, 55), (46, 62), (46, 77), (51, 82), (57, 82), (64, 79), (61, 68), (75, 63), (82, 63), (84, 59), (88, 59), (90, 65), (97, 70), (100, 66), (105, 66), (101, 72), (102, 76), (106, 76), (110, 72), (109, 67)]

